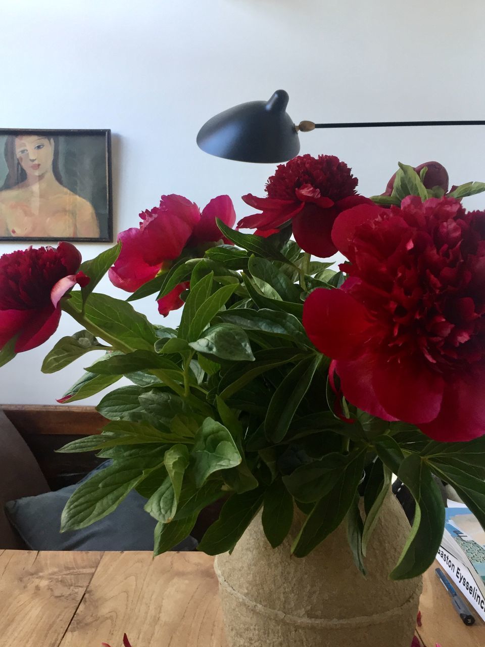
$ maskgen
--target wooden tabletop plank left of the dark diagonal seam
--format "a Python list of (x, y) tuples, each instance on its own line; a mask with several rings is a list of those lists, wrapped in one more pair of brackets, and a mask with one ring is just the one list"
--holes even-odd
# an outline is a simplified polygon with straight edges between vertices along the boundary
[(2, 647), (58, 647), (101, 557), (102, 553), (3, 551)]

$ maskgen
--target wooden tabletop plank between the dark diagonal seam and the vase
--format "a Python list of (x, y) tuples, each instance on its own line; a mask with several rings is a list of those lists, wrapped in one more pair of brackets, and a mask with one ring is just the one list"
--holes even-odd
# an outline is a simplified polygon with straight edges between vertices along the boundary
[(104, 553), (61, 647), (224, 647), (213, 558)]

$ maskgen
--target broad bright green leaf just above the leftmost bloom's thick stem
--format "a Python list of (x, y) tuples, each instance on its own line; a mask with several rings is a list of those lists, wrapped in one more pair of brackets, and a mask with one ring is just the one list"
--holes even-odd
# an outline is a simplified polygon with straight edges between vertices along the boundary
[[(71, 292), (70, 303), (80, 310), (81, 293)], [(155, 328), (144, 314), (137, 313), (129, 303), (93, 292), (85, 303), (84, 314), (91, 323), (134, 350), (153, 350)]]

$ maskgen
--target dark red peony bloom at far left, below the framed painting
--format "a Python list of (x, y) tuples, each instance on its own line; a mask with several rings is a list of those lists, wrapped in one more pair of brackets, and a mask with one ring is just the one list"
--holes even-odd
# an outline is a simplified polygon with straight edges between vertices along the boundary
[(80, 264), (81, 254), (70, 243), (0, 257), (0, 348), (18, 335), (16, 353), (28, 351), (56, 331), (61, 297), (76, 283), (89, 282), (78, 272)]

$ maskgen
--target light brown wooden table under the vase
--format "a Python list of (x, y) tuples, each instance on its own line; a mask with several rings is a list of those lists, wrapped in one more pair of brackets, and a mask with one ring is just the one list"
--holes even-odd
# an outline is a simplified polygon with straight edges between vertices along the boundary
[[(213, 558), (201, 553), (0, 550), (2, 647), (226, 647)], [(434, 573), (421, 598), (424, 647), (484, 647)], [(393, 646), (389, 646), (393, 647)]]

